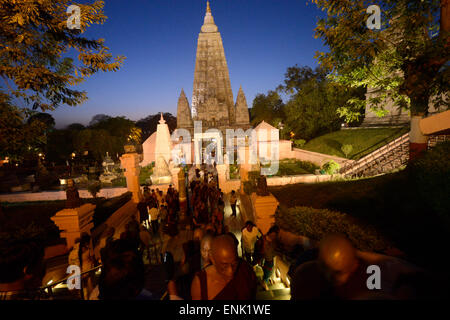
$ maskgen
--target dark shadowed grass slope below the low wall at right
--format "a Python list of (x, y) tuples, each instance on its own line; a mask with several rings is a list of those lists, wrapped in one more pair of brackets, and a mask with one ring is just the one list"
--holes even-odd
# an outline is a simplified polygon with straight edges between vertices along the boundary
[(347, 213), (360, 223), (374, 226), (409, 260), (423, 267), (444, 268), (439, 257), (448, 251), (450, 224), (420, 200), (407, 170), (360, 180), (269, 189), (281, 206)]

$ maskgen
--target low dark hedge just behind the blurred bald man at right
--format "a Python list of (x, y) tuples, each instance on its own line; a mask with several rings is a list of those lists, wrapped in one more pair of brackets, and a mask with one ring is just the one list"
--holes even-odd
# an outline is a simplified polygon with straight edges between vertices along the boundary
[(341, 233), (363, 251), (382, 252), (391, 247), (375, 228), (354, 222), (347, 214), (327, 209), (282, 208), (275, 215), (275, 222), (280, 228), (316, 241), (328, 234)]

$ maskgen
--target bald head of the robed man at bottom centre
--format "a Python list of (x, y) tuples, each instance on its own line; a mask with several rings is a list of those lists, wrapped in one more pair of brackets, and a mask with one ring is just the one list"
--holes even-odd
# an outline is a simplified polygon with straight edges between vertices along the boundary
[(236, 244), (229, 235), (213, 239), (211, 244), (211, 261), (217, 272), (226, 280), (233, 278), (238, 265)]

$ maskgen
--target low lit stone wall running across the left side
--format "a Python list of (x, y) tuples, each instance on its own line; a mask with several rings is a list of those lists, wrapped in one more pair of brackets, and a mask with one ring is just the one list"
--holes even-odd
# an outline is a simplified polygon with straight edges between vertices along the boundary
[[(98, 197), (114, 198), (125, 192), (127, 188), (103, 188), (100, 190)], [(78, 190), (80, 198), (92, 198), (87, 190)], [(53, 201), (66, 200), (65, 191), (43, 191), (43, 192), (20, 192), (0, 194), (0, 202), (27, 202), (27, 201)]]

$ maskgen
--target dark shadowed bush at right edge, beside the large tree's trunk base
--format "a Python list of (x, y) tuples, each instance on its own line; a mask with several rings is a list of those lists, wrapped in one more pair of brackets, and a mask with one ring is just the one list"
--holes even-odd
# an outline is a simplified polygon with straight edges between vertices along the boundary
[(410, 179), (421, 201), (450, 221), (450, 141), (439, 143), (411, 163)]

